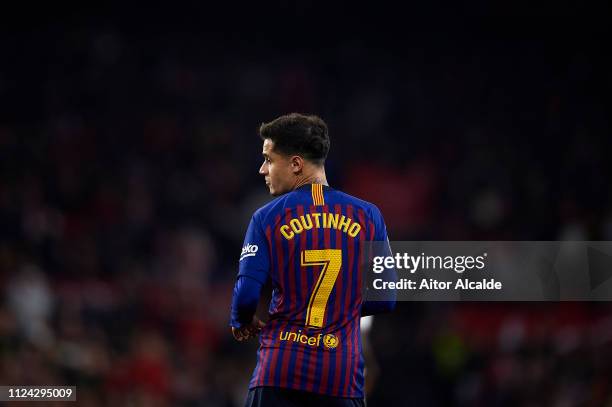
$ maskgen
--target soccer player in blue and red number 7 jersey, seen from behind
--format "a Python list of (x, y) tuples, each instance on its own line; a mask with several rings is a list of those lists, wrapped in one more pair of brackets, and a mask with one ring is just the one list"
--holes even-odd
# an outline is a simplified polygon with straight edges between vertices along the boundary
[[(387, 242), (371, 203), (330, 188), (327, 125), (292, 113), (259, 128), (264, 176), (276, 199), (249, 224), (232, 299), (231, 327), (243, 341), (259, 335), (247, 406), (363, 406), (361, 316), (388, 312), (364, 301), (364, 243)], [(269, 322), (255, 316), (272, 282)]]

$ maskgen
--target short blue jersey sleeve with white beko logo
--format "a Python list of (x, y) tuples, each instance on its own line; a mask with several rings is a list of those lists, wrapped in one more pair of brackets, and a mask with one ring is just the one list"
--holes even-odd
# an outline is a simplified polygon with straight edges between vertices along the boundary
[(247, 276), (266, 283), (270, 269), (268, 240), (257, 214), (253, 215), (240, 253), (238, 276)]

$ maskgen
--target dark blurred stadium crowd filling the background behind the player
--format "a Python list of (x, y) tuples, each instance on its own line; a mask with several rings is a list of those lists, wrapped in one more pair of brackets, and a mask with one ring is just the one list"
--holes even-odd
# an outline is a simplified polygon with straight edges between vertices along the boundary
[[(392, 240), (612, 240), (612, 67), (589, 36), (298, 50), (47, 26), (0, 37), (0, 61), (1, 384), (241, 405), (256, 345), (231, 339), (229, 302), (270, 199), (256, 131), (286, 112), (328, 121), (331, 185)], [(401, 304), (374, 321), (369, 402), (610, 405), (610, 310)]]

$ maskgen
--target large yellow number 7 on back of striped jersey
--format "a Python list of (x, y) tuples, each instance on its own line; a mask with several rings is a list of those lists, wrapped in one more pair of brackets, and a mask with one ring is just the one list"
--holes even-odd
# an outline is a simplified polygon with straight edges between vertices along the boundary
[(302, 266), (323, 266), (314, 291), (308, 300), (306, 311), (306, 326), (322, 328), (327, 302), (342, 267), (342, 250), (303, 250), (301, 264)]

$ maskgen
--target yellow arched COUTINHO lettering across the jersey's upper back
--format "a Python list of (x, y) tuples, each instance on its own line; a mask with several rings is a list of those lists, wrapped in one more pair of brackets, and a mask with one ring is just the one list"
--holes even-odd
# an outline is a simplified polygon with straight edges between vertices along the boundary
[(313, 227), (323, 229), (336, 229), (348, 234), (350, 237), (357, 237), (361, 231), (361, 225), (353, 219), (339, 215), (337, 213), (307, 213), (297, 218), (292, 218), (289, 224), (280, 227), (281, 234), (287, 240), (291, 240), (296, 234)]

